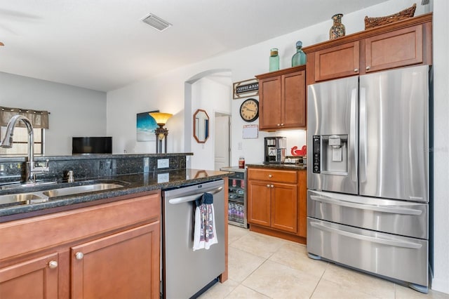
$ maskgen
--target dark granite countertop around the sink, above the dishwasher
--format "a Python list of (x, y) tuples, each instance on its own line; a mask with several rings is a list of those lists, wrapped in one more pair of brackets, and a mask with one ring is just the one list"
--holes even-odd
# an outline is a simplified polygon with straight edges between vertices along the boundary
[[(48, 201), (35, 204), (18, 204), (13, 206), (0, 205), (0, 222), (5, 222), (18, 218), (25, 218), (25, 215), (36, 215), (41, 211), (45, 214), (48, 209), (58, 207), (66, 207), (74, 204), (81, 204), (110, 197), (122, 197), (129, 194), (149, 192), (152, 190), (164, 190), (173, 187), (181, 187), (199, 182), (207, 182), (210, 180), (219, 180), (229, 176), (227, 171), (206, 171), (198, 169), (177, 169), (171, 171), (152, 171), (148, 173), (133, 173), (129, 175), (115, 175), (109, 177), (94, 178), (95, 181), (101, 182), (123, 182), (124, 187), (112, 190), (86, 192), (82, 194), (74, 194), (65, 197), (50, 197)], [(40, 185), (36, 187), (18, 187), (13, 189), (0, 190), (0, 195), (15, 194), (22, 192), (41, 192), (43, 190), (52, 190), (62, 185), (72, 187), (83, 185), (86, 181), (75, 181), (72, 183), (59, 183), (53, 185)], [(69, 208), (67, 208), (69, 209)], [(22, 216), (18, 214), (24, 214)], [(39, 213), (38, 213), (39, 214)], [(29, 216), (28, 216), (29, 217)]]

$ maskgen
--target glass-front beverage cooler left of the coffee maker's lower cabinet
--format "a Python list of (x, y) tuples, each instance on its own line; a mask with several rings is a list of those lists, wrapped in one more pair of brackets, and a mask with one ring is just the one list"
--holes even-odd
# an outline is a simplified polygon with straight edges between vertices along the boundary
[(231, 225), (248, 228), (246, 221), (246, 169), (222, 167), (220, 171), (234, 172), (228, 178), (228, 222)]

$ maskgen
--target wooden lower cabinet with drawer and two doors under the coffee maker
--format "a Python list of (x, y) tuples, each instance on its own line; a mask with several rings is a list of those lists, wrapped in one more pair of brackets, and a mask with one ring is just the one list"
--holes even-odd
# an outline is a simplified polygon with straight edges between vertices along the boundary
[(306, 171), (248, 167), (250, 230), (306, 243)]

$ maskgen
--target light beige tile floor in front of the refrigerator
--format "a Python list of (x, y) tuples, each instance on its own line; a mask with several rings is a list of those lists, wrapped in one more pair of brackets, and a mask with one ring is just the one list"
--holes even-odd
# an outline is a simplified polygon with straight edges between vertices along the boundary
[(229, 279), (215, 284), (208, 298), (446, 298), (419, 293), (345, 267), (312, 260), (295, 242), (229, 225)]

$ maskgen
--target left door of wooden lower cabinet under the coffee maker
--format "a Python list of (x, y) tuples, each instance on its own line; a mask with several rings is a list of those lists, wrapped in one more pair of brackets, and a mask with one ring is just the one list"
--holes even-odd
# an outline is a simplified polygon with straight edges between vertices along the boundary
[(271, 225), (271, 188), (269, 182), (248, 180), (248, 222)]

